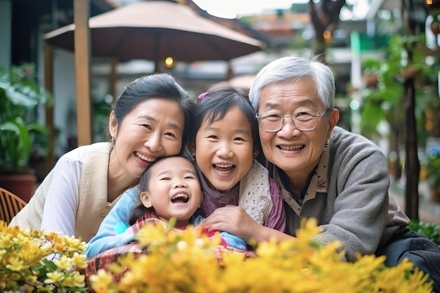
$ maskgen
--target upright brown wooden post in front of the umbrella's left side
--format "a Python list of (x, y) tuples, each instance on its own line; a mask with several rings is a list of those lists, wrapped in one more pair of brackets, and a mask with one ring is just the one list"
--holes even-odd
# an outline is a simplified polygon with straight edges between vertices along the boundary
[(74, 0), (78, 145), (91, 143), (89, 0)]

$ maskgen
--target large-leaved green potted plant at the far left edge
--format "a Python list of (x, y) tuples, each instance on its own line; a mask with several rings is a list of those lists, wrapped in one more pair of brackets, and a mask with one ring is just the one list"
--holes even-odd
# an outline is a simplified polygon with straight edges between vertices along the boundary
[(0, 169), (27, 167), (37, 134), (48, 126), (37, 123), (37, 106), (53, 103), (53, 96), (35, 80), (31, 63), (0, 68)]

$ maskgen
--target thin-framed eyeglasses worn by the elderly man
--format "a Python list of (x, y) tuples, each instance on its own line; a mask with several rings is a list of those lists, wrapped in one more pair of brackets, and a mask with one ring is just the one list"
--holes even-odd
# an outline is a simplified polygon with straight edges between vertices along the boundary
[(311, 112), (297, 112), (294, 115), (281, 115), (279, 113), (265, 112), (261, 115), (256, 115), (261, 129), (268, 132), (276, 132), (283, 128), (284, 118), (291, 118), (293, 124), (297, 129), (301, 131), (308, 131), (315, 129), (317, 118), (321, 118), (325, 115), (327, 110), (321, 114), (314, 114)]

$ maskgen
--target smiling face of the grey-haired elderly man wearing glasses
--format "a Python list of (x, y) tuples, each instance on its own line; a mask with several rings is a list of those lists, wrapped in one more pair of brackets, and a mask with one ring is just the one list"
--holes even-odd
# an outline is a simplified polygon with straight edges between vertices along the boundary
[[(279, 82), (266, 86), (261, 92), (258, 113), (276, 112), (294, 115), (298, 112), (322, 113), (325, 107), (318, 98), (316, 84), (307, 77), (296, 82)], [(289, 117), (279, 131), (268, 132), (259, 126), (261, 147), (264, 156), (289, 178), (306, 180), (319, 162), (325, 142), (330, 138), (339, 114), (330, 110), (328, 115), (316, 117), (316, 127), (300, 131)]]

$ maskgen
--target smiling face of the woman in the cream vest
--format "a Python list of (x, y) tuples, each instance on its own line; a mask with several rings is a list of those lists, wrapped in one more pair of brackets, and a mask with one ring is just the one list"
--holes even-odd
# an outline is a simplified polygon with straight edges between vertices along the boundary
[(110, 153), (113, 177), (140, 178), (158, 157), (177, 155), (182, 146), (185, 116), (179, 103), (164, 98), (149, 98), (115, 124), (110, 114), (110, 135), (115, 143)]

